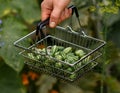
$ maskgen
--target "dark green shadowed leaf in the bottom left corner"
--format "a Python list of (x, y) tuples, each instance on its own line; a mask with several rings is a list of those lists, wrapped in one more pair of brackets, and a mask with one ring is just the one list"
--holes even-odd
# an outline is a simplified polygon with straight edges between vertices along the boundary
[(0, 61), (0, 93), (26, 93), (17, 72)]

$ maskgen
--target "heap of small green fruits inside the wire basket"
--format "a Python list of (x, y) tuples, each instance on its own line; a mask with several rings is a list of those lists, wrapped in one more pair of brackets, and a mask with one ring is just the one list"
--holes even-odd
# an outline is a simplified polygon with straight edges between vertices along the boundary
[[(73, 49), (72, 47), (63, 47), (63, 46), (48, 46), (47, 48), (32, 48), (34, 53), (28, 53), (28, 57), (34, 60), (39, 60), (44, 62), (46, 66), (54, 66), (66, 70), (68, 72), (74, 72), (75, 68), (67, 64), (74, 64), (78, 62), (86, 54), (83, 49)], [(81, 67), (89, 61), (89, 57), (84, 59), (84, 61), (79, 62), (76, 67)], [(73, 78), (74, 75), (71, 75), (70, 78)]]

